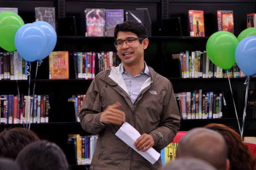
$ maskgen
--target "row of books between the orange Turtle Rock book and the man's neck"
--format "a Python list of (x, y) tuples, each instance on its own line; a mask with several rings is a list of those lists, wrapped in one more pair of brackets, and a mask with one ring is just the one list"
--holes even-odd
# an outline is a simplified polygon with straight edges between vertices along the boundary
[(118, 54), (113, 51), (73, 52), (71, 55), (78, 79), (94, 79), (97, 73), (121, 63)]

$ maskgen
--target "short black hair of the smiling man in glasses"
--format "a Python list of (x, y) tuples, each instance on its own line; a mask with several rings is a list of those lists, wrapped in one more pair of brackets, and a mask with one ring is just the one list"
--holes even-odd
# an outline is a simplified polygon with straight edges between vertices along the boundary
[[(115, 41), (119, 31), (129, 31), (135, 33), (139, 38), (147, 38), (147, 29), (137, 21), (125, 21), (117, 24), (114, 32)], [(142, 40), (140, 40), (140, 43), (142, 43)]]

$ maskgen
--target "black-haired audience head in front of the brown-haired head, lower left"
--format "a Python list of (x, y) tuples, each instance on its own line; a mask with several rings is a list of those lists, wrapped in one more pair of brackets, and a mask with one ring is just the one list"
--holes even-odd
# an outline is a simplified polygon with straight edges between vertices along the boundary
[(62, 149), (46, 140), (28, 144), (19, 152), (15, 162), (21, 170), (69, 170)]

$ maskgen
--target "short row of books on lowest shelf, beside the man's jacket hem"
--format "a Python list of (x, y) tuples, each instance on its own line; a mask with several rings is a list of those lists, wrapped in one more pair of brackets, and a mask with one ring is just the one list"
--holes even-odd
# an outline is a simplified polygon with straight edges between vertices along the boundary
[(68, 144), (74, 145), (77, 165), (90, 165), (95, 150), (98, 135), (81, 136), (69, 134)]

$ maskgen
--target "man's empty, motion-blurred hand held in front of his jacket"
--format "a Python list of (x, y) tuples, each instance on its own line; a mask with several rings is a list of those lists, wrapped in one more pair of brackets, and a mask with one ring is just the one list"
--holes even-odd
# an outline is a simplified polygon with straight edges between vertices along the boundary
[(126, 121), (126, 114), (118, 109), (120, 106), (121, 103), (119, 102), (108, 105), (100, 115), (100, 121), (106, 124), (113, 123), (117, 125), (124, 123)]

